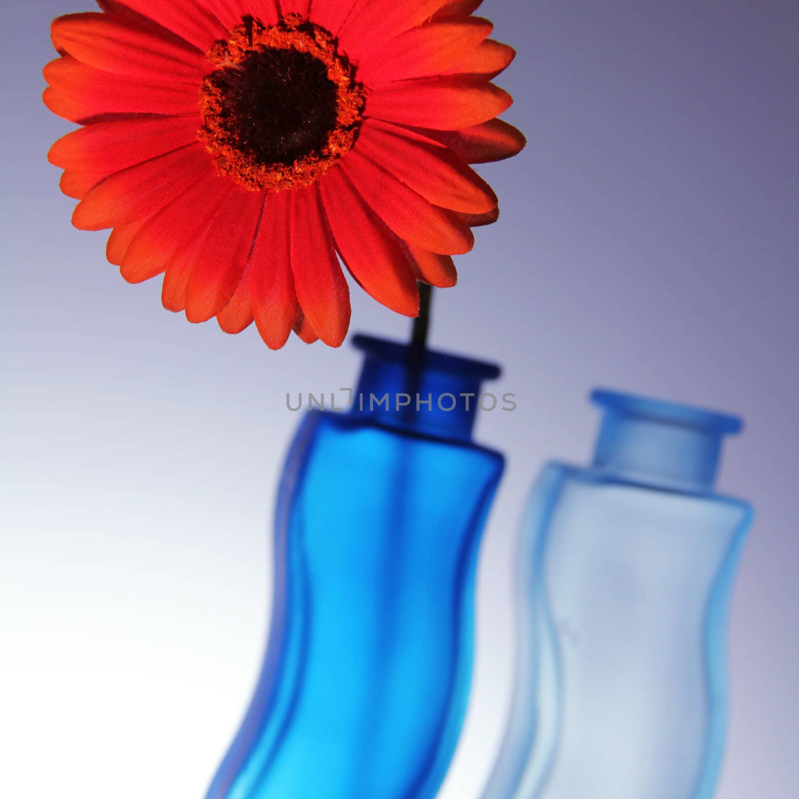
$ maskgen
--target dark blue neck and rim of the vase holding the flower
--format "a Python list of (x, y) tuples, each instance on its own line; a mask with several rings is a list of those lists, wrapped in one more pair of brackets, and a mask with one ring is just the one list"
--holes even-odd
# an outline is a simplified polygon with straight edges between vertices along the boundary
[[(365, 354), (352, 413), (381, 424), (443, 438), (471, 440), (483, 380), (495, 364), (354, 336)], [(486, 407), (486, 406), (484, 406)]]

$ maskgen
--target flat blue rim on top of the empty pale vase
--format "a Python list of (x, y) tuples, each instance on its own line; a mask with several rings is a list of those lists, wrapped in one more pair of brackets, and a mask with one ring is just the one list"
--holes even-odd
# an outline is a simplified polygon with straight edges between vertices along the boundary
[(743, 422), (739, 416), (707, 408), (659, 400), (654, 397), (596, 388), (590, 394), (595, 405), (636, 419), (674, 424), (706, 433), (733, 435), (740, 432)]

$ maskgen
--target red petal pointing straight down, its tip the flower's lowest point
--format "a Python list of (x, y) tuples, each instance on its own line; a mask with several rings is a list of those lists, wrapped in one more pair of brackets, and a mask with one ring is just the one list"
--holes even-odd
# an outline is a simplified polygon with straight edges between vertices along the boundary
[(290, 225), (291, 192), (269, 194), (248, 268), (255, 324), (270, 349), (286, 343), (300, 309), (292, 276)]

